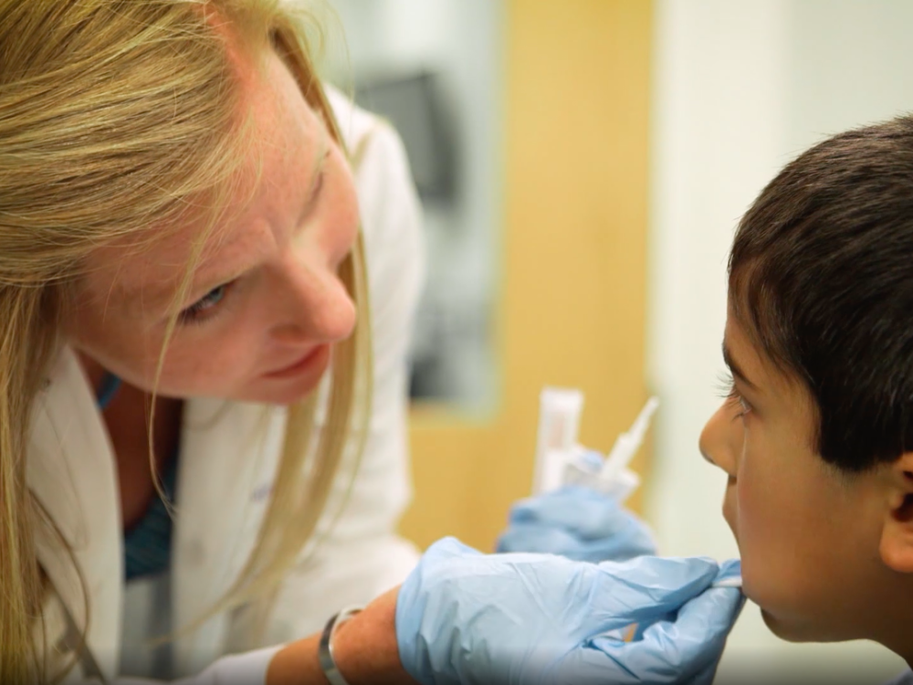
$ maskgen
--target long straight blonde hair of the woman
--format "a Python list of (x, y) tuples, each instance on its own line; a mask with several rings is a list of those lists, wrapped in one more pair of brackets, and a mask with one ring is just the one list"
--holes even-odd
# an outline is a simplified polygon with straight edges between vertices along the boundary
[[(62, 675), (42, 668), (34, 637), (42, 516), (26, 455), (72, 286), (100, 245), (142, 246), (149, 227), (192, 215), (215, 227), (215, 208), (250, 152), (236, 68), (214, 17), (248, 54), (278, 48), (341, 143), (310, 59), (310, 15), (278, 0), (0, 0), (0, 681)], [(341, 463), (361, 454), (372, 377), (361, 239), (341, 279), (359, 324), (334, 352), (325, 423), (315, 436), (313, 396), (289, 407), (257, 543), (213, 613), (251, 600), (266, 606), (314, 539)]]

